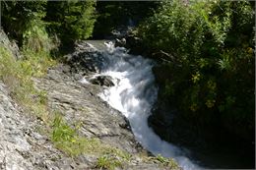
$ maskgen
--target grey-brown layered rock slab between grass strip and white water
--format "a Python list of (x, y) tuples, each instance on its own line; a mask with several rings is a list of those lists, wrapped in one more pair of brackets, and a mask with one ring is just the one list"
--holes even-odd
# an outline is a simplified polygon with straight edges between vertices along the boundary
[(83, 85), (66, 75), (63, 67), (59, 65), (49, 70), (45, 78), (34, 80), (36, 86), (47, 91), (50, 108), (63, 113), (69, 124), (82, 123), (83, 136), (137, 152), (134, 146), (138, 143), (128, 128), (129, 123), (96, 95), (100, 85)]

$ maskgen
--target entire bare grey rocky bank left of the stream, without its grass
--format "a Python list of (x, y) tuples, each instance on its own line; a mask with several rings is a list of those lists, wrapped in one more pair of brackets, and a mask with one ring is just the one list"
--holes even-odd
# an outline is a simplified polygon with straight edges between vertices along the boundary
[[(3, 44), (1, 44), (3, 45)], [(8, 47), (7, 47), (8, 48)], [(86, 139), (96, 139), (109, 150), (120, 150), (125, 161), (108, 162), (94, 150), (69, 156), (51, 141), (45, 123), (28, 113), (0, 83), (0, 167), (1, 169), (176, 169), (173, 161), (152, 157), (135, 138), (129, 122), (118, 111), (102, 101), (98, 92), (111, 85), (109, 78), (93, 78), (102, 63), (100, 53), (86, 43), (80, 43), (63, 64), (49, 68), (41, 78), (33, 78), (35, 88), (46, 94), (49, 113), (58, 112), (70, 127), (79, 125), (77, 133)], [(83, 77), (92, 77), (92, 84), (82, 84)], [(105, 148), (105, 147), (102, 147)], [(107, 151), (107, 150), (106, 150)], [(107, 155), (111, 155), (111, 151)], [(114, 155), (116, 156), (116, 155)], [(114, 157), (118, 160), (119, 157)], [(100, 159), (100, 161), (109, 159)], [(100, 166), (102, 165), (102, 166)]]

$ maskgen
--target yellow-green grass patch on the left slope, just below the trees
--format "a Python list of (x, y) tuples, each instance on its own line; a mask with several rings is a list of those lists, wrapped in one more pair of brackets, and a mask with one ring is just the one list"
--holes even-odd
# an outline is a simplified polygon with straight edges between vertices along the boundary
[(7, 48), (0, 46), (0, 79), (26, 112), (45, 120), (47, 94), (34, 88), (32, 78), (43, 76), (55, 63), (45, 52), (25, 51), (24, 55), (24, 59), (16, 60)]

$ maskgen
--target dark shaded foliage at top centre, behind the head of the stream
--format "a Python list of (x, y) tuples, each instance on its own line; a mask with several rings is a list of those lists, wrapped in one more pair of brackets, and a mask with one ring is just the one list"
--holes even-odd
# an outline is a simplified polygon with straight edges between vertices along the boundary
[[(102, 38), (121, 26), (138, 24), (150, 16), (158, 2), (97, 1), (94, 37)], [(131, 23), (131, 21), (133, 23)]]

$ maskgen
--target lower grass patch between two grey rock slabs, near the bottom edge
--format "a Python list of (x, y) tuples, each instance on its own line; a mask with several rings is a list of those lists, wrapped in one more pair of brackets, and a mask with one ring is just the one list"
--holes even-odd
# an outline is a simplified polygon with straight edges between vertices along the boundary
[(52, 121), (51, 140), (71, 157), (83, 153), (96, 155), (96, 168), (114, 169), (130, 161), (132, 156), (126, 151), (104, 144), (96, 138), (80, 137), (77, 133), (79, 128), (79, 125), (72, 128), (60, 113), (56, 113)]

